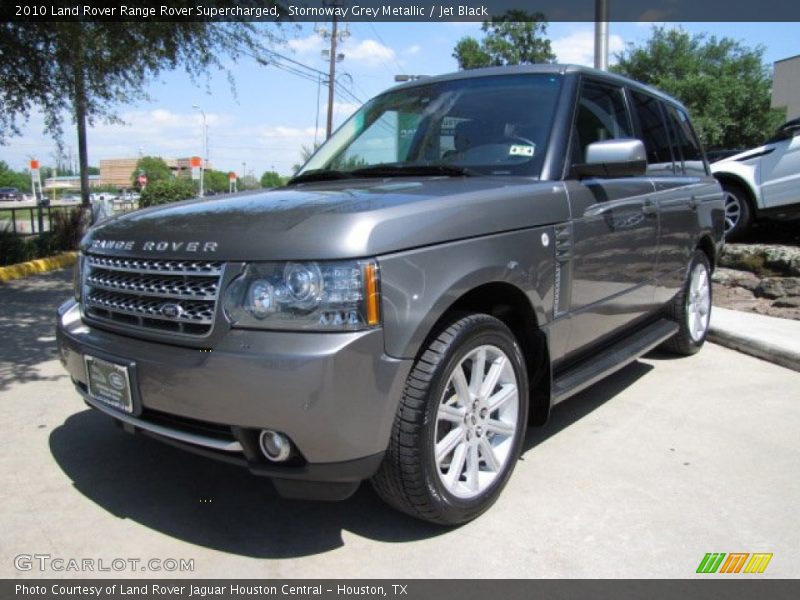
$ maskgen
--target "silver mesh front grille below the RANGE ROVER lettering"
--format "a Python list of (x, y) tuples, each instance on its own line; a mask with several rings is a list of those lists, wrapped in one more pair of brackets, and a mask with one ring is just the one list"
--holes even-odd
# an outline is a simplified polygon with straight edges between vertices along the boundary
[(207, 260), (88, 255), (84, 313), (131, 329), (207, 335), (214, 326), (223, 266)]

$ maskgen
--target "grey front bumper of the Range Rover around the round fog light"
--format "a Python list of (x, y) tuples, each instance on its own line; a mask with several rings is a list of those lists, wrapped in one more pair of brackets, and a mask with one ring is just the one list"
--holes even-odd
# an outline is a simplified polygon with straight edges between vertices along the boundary
[[(73, 300), (58, 309), (57, 339), (61, 362), (90, 406), (128, 431), (273, 477), (288, 496), (337, 495), (331, 486), (292, 482), (344, 490), (374, 474), (411, 368), (384, 354), (381, 330), (231, 330), (201, 350), (89, 326)], [(133, 414), (88, 397), (84, 354), (130, 365)], [(295, 457), (266, 460), (257, 445), (261, 429), (286, 434)]]

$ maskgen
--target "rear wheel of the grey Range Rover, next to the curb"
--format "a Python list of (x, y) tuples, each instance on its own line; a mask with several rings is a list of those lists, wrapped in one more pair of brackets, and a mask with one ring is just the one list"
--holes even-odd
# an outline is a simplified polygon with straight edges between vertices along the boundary
[(711, 267), (705, 252), (695, 250), (686, 281), (668, 309), (670, 319), (678, 324), (678, 332), (664, 343), (664, 349), (690, 356), (703, 347), (711, 319)]

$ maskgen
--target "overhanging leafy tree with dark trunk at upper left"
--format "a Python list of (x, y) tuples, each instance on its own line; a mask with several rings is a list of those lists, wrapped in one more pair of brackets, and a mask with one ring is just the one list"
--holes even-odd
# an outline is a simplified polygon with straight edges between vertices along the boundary
[[(194, 4), (173, 0), (170, 6)], [(255, 0), (213, 4), (261, 5)], [(78, 131), (81, 192), (88, 204), (87, 124), (117, 120), (116, 107), (146, 98), (143, 81), (163, 70), (183, 67), (193, 78), (210, 68), (224, 70), (223, 56), (258, 53), (262, 40), (271, 41), (269, 33), (246, 22), (2, 22), (0, 143), (19, 134), (20, 122), (34, 107), (60, 143), (64, 115), (71, 114)]]

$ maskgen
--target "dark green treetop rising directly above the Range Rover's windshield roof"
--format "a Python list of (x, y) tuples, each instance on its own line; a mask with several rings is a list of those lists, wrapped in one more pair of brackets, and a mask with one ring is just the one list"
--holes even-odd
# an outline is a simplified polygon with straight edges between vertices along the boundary
[(509, 10), (481, 26), (484, 38), (461, 38), (453, 49), (459, 69), (552, 62), (547, 21), (542, 13)]

